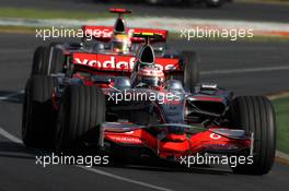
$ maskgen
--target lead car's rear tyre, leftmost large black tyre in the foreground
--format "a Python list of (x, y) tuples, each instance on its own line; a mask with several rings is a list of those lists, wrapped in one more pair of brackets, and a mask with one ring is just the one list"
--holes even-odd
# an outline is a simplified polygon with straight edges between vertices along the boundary
[(56, 86), (57, 80), (45, 75), (33, 75), (26, 83), (22, 112), (22, 140), (26, 146), (53, 147)]

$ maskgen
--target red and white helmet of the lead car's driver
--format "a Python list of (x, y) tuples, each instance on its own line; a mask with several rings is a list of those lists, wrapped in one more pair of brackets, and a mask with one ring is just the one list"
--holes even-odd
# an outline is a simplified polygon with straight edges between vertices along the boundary
[(163, 71), (154, 65), (147, 65), (138, 71), (138, 83), (146, 84), (150, 87), (160, 86), (164, 81)]

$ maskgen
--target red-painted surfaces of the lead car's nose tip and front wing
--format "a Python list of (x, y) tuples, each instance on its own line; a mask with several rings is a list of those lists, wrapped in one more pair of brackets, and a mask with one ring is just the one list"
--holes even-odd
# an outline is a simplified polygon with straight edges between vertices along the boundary
[(230, 151), (243, 151), (251, 146), (250, 139), (233, 139), (227, 135), (220, 135), (213, 130), (217, 130), (217, 128), (210, 128), (207, 131), (192, 134), (190, 136), (187, 136), (186, 133), (167, 133), (165, 134), (165, 141), (162, 141), (144, 129), (117, 132), (108, 128), (108, 130), (104, 132), (104, 140), (123, 146), (138, 145), (149, 147), (161, 158), (173, 157), (175, 159), (181, 156), (195, 155), (207, 151), (222, 151), (226, 153)]

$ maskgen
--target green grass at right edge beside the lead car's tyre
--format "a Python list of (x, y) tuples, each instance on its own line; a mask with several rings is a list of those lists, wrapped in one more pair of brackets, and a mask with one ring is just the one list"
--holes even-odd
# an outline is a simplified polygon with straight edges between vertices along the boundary
[(289, 98), (274, 100), (277, 115), (277, 150), (289, 154)]

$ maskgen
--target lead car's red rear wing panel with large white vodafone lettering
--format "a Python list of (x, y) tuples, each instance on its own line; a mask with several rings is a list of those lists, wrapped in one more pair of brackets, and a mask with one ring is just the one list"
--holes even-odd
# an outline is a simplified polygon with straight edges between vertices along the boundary
[[(104, 70), (128, 70), (131, 71), (136, 58), (129, 56), (97, 55), (97, 53), (73, 53), (73, 63), (89, 65)], [(175, 70), (178, 59), (157, 58), (155, 65), (161, 70)]]

